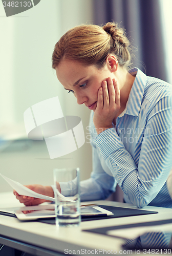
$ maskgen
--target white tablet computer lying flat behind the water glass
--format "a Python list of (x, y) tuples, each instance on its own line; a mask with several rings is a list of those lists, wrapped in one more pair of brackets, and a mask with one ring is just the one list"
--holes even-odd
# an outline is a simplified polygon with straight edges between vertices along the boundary
[[(27, 207), (25, 207), (27, 208)], [(105, 210), (99, 206), (81, 206), (81, 216), (82, 217), (94, 217), (94, 216), (110, 216), (113, 212)], [(54, 205), (50, 204), (42, 205), (41, 207), (29, 207), (29, 209), (20, 209), (14, 211), (15, 216), (21, 221), (45, 219), (45, 218), (55, 218)]]

